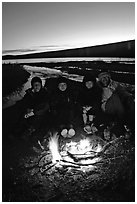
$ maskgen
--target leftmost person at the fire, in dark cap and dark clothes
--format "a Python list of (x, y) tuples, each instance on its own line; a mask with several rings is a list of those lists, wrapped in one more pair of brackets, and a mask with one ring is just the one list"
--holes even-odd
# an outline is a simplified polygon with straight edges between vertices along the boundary
[(42, 80), (34, 77), (31, 80), (31, 88), (26, 90), (23, 99), (19, 101), (21, 118), (18, 129), (31, 134), (40, 128), (45, 115), (49, 112), (48, 91), (42, 86)]

